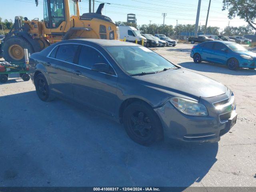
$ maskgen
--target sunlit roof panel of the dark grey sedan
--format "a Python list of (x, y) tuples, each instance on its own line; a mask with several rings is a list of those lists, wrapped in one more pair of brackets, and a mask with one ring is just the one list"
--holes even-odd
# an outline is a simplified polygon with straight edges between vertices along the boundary
[[(70, 39), (61, 41), (61, 43), (94, 43), (100, 46), (140, 46), (139, 44), (124, 42), (120, 40), (107, 40), (107, 39)], [(60, 44), (61, 44), (60, 43)]]

